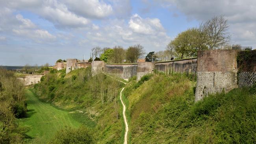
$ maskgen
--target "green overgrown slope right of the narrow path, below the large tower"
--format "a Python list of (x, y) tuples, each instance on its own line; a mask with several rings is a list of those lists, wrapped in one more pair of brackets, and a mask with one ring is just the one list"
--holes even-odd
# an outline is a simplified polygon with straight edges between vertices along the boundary
[[(195, 81), (155, 74), (126, 86), (130, 143), (256, 142), (256, 87), (210, 95), (195, 103)], [(128, 118), (129, 120), (129, 118)]]

